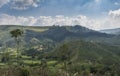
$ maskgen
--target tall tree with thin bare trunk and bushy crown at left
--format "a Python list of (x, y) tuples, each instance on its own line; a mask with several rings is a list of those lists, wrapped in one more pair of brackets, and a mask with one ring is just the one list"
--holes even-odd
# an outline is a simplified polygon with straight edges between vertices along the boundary
[(14, 29), (12, 31), (10, 31), (11, 37), (14, 37), (15, 41), (16, 41), (16, 48), (17, 48), (17, 62), (18, 62), (18, 54), (19, 54), (19, 50), (20, 50), (20, 42), (21, 42), (21, 37), (23, 35), (23, 31), (20, 29)]

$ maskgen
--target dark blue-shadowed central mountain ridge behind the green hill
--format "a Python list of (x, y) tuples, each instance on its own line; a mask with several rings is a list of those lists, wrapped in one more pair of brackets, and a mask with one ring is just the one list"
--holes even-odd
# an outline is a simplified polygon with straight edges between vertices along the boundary
[(100, 33), (80, 25), (76, 26), (53, 26), (49, 30), (41, 32), (39, 36), (49, 38), (54, 41), (63, 41), (65, 39), (74, 38), (97, 38), (97, 37), (112, 37), (113, 35)]

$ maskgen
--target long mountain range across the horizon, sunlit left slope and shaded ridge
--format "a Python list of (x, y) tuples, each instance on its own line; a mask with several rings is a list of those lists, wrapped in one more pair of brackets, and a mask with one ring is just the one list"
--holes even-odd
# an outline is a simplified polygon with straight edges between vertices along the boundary
[[(24, 45), (27, 47), (43, 45), (45, 48), (55, 46), (62, 41), (69, 41), (74, 39), (83, 39), (94, 42), (106, 42), (114, 35), (100, 33), (82, 27), (75, 26), (17, 26), (17, 25), (1, 25), (0, 26), (0, 45), (7, 45), (11, 47), (15, 45), (13, 38), (11, 38), (10, 31), (13, 29), (21, 29), (24, 31)], [(109, 41), (107, 41), (109, 42)]]

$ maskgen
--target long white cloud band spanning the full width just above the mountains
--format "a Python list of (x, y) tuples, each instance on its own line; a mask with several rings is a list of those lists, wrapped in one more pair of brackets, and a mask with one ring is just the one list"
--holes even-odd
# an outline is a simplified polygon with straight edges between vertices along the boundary
[(0, 25), (31, 25), (31, 26), (52, 26), (52, 25), (81, 25), (90, 29), (111, 29), (120, 28), (120, 9), (109, 11), (108, 16), (102, 19), (91, 19), (84, 15), (73, 17), (56, 15), (39, 16), (39, 17), (23, 17), (11, 16), (7, 14), (0, 15)]

